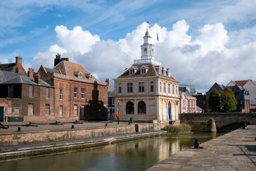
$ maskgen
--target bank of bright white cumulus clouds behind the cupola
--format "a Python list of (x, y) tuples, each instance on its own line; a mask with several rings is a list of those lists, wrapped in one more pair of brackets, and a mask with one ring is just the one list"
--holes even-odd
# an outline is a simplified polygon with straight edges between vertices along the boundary
[[(230, 37), (222, 23), (204, 25), (198, 30), (197, 37), (189, 35), (188, 30), (189, 25), (185, 20), (176, 22), (172, 30), (157, 24), (149, 28), (155, 45), (156, 33), (159, 34), (159, 60), (162, 66), (170, 68), (178, 81), (192, 84), (205, 92), (215, 82), (227, 84), (231, 79), (256, 79), (253, 65), (256, 62), (256, 42), (227, 47)], [(79, 26), (73, 30), (63, 25), (56, 26), (55, 31), (61, 44), (52, 45), (46, 52), (38, 52), (31, 65), (35, 69), (40, 64), (53, 67), (55, 55), (60, 53), (62, 57), (82, 64), (104, 81), (105, 77), (118, 77), (133, 64), (134, 59), (140, 59), (146, 22), (117, 42), (100, 40), (98, 35), (92, 35)], [(111, 84), (113, 88), (113, 81)]]

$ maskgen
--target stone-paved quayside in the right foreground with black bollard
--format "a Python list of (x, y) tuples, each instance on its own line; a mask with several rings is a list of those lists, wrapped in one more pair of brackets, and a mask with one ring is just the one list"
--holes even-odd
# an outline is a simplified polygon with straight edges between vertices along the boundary
[(256, 125), (246, 128), (200, 144), (204, 149), (180, 151), (148, 171), (256, 171)]

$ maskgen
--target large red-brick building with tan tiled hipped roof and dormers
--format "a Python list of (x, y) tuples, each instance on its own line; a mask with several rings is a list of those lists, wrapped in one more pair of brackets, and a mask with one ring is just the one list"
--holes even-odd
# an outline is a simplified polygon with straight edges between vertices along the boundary
[(53, 69), (41, 65), (38, 72), (55, 88), (56, 120), (107, 119), (107, 83), (97, 80), (82, 65), (58, 54)]

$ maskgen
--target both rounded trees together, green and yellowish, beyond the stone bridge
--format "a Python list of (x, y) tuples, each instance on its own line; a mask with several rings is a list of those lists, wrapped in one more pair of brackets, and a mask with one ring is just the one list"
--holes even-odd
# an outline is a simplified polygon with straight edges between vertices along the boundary
[(208, 99), (209, 108), (212, 111), (220, 112), (220, 94), (221, 94), (221, 104), (224, 112), (230, 112), (236, 110), (236, 98), (235, 94), (228, 87), (223, 90), (213, 89), (210, 92)]

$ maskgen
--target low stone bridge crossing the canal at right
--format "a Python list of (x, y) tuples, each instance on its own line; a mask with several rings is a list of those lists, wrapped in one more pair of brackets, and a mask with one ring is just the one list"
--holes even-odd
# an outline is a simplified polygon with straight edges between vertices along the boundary
[(195, 131), (208, 131), (212, 118), (218, 131), (234, 130), (241, 127), (241, 122), (256, 124), (254, 113), (183, 113), (179, 114), (181, 124), (188, 124)]

